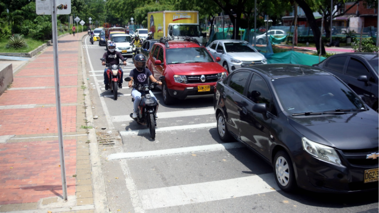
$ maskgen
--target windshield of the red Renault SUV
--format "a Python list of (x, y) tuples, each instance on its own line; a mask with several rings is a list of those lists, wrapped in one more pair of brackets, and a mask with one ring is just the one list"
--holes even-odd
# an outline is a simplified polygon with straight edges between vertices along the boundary
[(212, 56), (203, 47), (175, 48), (166, 50), (166, 62), (171, 63), (196, 63), (214, 62)]

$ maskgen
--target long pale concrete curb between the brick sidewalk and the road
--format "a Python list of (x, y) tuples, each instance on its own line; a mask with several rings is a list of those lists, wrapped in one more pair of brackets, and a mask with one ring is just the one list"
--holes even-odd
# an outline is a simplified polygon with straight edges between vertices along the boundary
[[(85, 37), (84, 35), (83, 37)], [(82, 37), (82, 40), (83, 40)], [(86, 119), (88, 126), (94, 126), (93, 114), (91, 109), (91, 100), (88, 90), (87, 73), (85, 69), (84, 61), (84, 51), (81, 48), (82, 57), (82, 72), (83, 72), (83, 82), (86, 89), (84, 89), (85, 105), (86, 105)], [(89, 129), (88, 139), (90, 140), (90, 160), (91, 160), (91, 170), (92, 170), (92, 187), (93, 187), (93, 204), (95, 204), (95, 212), (109, 212), (108, 200), (106, 196), (105, 183), (101, 170), (101, 161), (99, 157), (98, 141), (96, 138), (96, 130), (94, 128)]]

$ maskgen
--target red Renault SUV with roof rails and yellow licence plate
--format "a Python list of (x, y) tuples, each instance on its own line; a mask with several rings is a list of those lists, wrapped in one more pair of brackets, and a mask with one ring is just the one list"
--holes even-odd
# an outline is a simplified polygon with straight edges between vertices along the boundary
[(165, 76), (162, 84), (163, 101), (213, 96), (218, 80), (227, 76), (205, 47), (196, 40), (171, 41), (161, 38), (149, 53), (148, 68), (155, 79)]

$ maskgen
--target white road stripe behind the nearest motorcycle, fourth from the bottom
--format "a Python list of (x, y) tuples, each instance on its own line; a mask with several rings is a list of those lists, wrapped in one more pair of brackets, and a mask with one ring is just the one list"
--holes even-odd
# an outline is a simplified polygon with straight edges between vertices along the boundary
[[(130, 96), (130, 94), (129, 94), (129, 96)], [(200, 116), (200, 115), (212, 115), (212, 114), (215, 114), (215, 110), (213, 109), (213, 107), (206, 108), (206, 109), (200, 109), (200, 110), (183, 110), (183, 111), (159, 113), (159, 119), (161, 119), (161, 118), (188, 117), (188, 116)], [(132, 121), (132, 120), (133, 119), (130, 118), (129, 115), (112, 116), (113, 122), (124, 122), (124, 121)]]

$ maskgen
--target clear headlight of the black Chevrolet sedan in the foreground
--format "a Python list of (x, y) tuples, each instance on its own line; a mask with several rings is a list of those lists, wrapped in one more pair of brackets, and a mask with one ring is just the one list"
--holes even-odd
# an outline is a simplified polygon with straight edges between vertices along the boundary
[(331, 163), (341, 164), (341, 160), (335, 149), (318, 144), (306, 137), (301, 138), (301, 140), (303, 148), (307, 153)]

